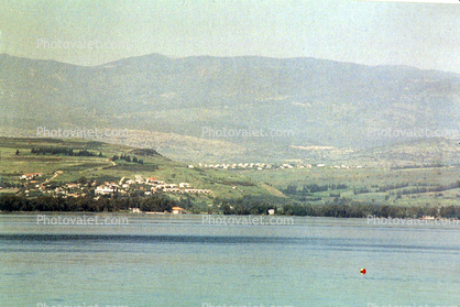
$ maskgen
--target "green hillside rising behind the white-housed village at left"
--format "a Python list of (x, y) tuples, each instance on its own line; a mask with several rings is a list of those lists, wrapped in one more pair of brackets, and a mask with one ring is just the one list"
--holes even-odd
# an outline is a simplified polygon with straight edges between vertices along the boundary
[[(86, 182), (120, 182), (121, 178), (135, 179), (154, 177), (168, 184), (188, 183), (194, 188), (210, 189), (210, 195), (193, 196), (196, 201), (212, 204), (216, 198), (241, 198), (244, 196), (271, 197), (273, 189), (263, 188), (256, 182), (238, 173), (215, 169), (189, 168), (188, 165), (172, 161), (153, 150), (133, 149), (101, 142), (53, 139), (9, 139), (0, 138), (0, 176), (2, 183), (11, 185), (23, 183), (20, 176), (43, 173), (40, 183), (48, 184)], [(66, 156), (63, 154), (34, 154), (33, 149), (81, 150), (95, 156)], [(102, 156), (99, 156), (99, 155)], [(142, 160), (143, 164), (118, 160), (113, 155), (129, 155)], [(56, 175), (57, 174), (57, 175)], [(172, 194), (173, 198), (179, 198)]]

